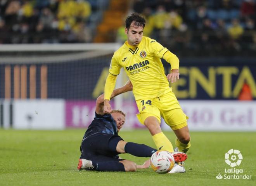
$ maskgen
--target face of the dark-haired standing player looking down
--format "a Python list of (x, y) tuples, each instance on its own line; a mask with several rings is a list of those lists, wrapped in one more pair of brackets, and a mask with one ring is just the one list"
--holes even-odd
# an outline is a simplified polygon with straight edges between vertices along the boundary
[(125, 34), (127, 35), (127, 41), (131, 46), (137, 46), (143, 36), (143, 27), (137, 26), (135, 22), (131, 22), (129, 30), (125, 28)]

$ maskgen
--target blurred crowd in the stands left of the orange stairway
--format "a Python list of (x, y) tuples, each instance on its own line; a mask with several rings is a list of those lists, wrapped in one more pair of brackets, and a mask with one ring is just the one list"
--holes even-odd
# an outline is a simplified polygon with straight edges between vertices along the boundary
[(0, 43), (90, 42), (91, 12), (84, 0), (0, 0)]

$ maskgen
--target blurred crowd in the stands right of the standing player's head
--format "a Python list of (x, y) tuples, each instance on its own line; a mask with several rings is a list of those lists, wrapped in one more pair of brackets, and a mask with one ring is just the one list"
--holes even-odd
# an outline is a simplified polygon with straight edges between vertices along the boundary
[(147, 18), (144, 34), (180, 55), (256, 51), (255, 0), (135, 0), (133, 11)]

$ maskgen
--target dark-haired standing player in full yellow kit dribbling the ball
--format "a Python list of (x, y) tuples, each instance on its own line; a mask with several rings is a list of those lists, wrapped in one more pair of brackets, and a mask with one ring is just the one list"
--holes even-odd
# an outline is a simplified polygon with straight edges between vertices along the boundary
[[(156, 40), (143, 37), (145, 19), (137, 13), (126, 19), (127, 41), (113, 55), (109, 75), (105, 84), (104, 112), (110, 113), (110, 96), (116, 84), (117, 75), (123, 67), (133, 84), (139, 121), (150, 131), (159, 150), (173, 152), (173, 145), (160, 128), (161, 116), (176, 135), (178, 151), (190, 148), (187, 116), (183, 113), (169, 82), (179, 79), (179, 59)], [(161, 58), (171, 64), (171, 73), (164, 74)], [(182, 164), (175, 164), (170, 173), (185, 172)]]

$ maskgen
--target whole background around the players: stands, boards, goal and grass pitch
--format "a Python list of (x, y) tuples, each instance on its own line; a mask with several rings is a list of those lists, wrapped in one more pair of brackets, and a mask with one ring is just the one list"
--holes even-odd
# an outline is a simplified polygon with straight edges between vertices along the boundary
[[(0, 0), (0, 185), (255, 185), (255, 11), (254, 0)], [(185, 176), (76, 169), (131, 12), (147, 19), (145, 36), (180, 59), (180, 80), (171, 87), (189, 116)], [(121, 72), (117, 87), (126, 81)], [(127, 113), (121, 137), (154, 147), (133, 95), (111, 104)], [(250, 180), (216, 179), (230, 169), (231, 148), (242, 153), (237, 169)]]

